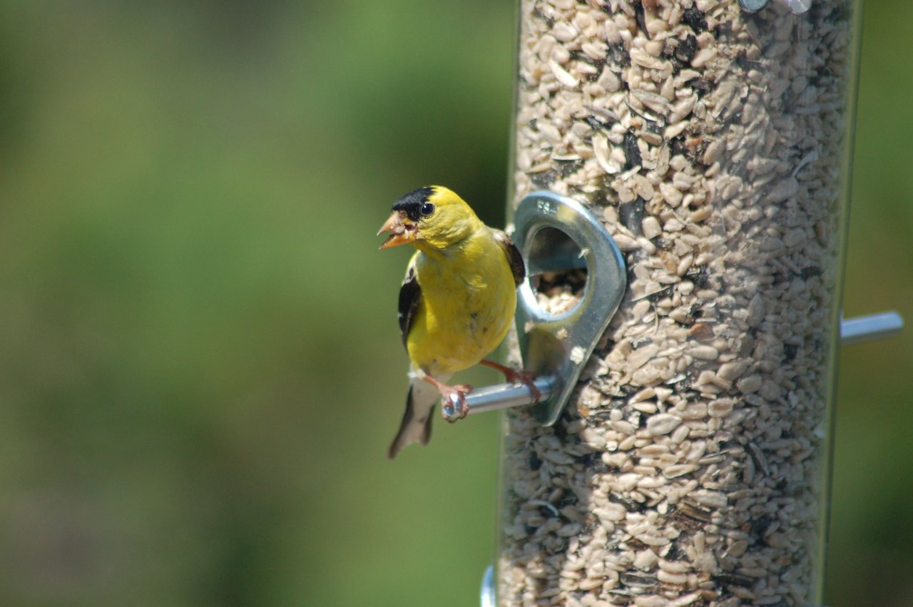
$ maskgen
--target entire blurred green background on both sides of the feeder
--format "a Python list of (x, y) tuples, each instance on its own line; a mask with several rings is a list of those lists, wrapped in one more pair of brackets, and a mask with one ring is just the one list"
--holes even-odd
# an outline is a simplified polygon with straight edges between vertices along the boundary
[[(0, 604), (477, 604), (498, 418), (383, 457), (374, 233), (503, 225), (513, 4), (0, 7)], [(913, 321), (910, 31), (866, 6), (847, 316)], [(831, 607), (913, 604), (911, 334), (842, 353)]]

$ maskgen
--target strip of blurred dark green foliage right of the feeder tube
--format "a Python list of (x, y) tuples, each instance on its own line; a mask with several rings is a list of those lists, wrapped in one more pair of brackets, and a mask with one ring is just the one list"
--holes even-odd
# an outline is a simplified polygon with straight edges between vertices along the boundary
[(913, 12), (863, 3), (846, 317), (897, 309), (900, 337), (844, 348), (825, 603), (913, 604)]

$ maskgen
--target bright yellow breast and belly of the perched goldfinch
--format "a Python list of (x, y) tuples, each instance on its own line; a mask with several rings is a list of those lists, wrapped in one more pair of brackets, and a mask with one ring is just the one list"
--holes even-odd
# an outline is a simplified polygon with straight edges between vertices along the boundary
[(504, 339), (517, 292), (507, 256), (488, 228), (445, 252), (417, 254), (421, 299), (406, 338), (415, 366), (430, 374), (467, 369)]

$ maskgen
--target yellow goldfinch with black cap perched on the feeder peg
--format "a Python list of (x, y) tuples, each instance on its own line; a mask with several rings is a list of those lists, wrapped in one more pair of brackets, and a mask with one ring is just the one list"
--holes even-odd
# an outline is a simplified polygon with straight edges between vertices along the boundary
[(409, 394), (387, 457), (411, 443), (428, 443), (438, 397), (455, 400), (460, 416), (467, 415), (472, 386), (447, 385), (455, 372), (482, 363), (537, 395), (531, 373), (485, 360), (508, 333), (525, 277), (523, 257), (510, 237), (483, 224), (462, 198), (439, 185), (404, 194), (377, 234), (389, 234), (382, 249), (418, 249), (399, 295), (400, 330), (411, 362)]

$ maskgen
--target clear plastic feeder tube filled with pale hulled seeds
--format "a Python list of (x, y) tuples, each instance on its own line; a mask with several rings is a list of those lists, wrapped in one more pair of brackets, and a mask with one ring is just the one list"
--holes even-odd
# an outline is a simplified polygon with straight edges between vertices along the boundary
[(519, 11), (513, 204), (587, 204), (628, 288), (558, 422), (505, 417), (498, 604), (819, 604), (858, 5)]

